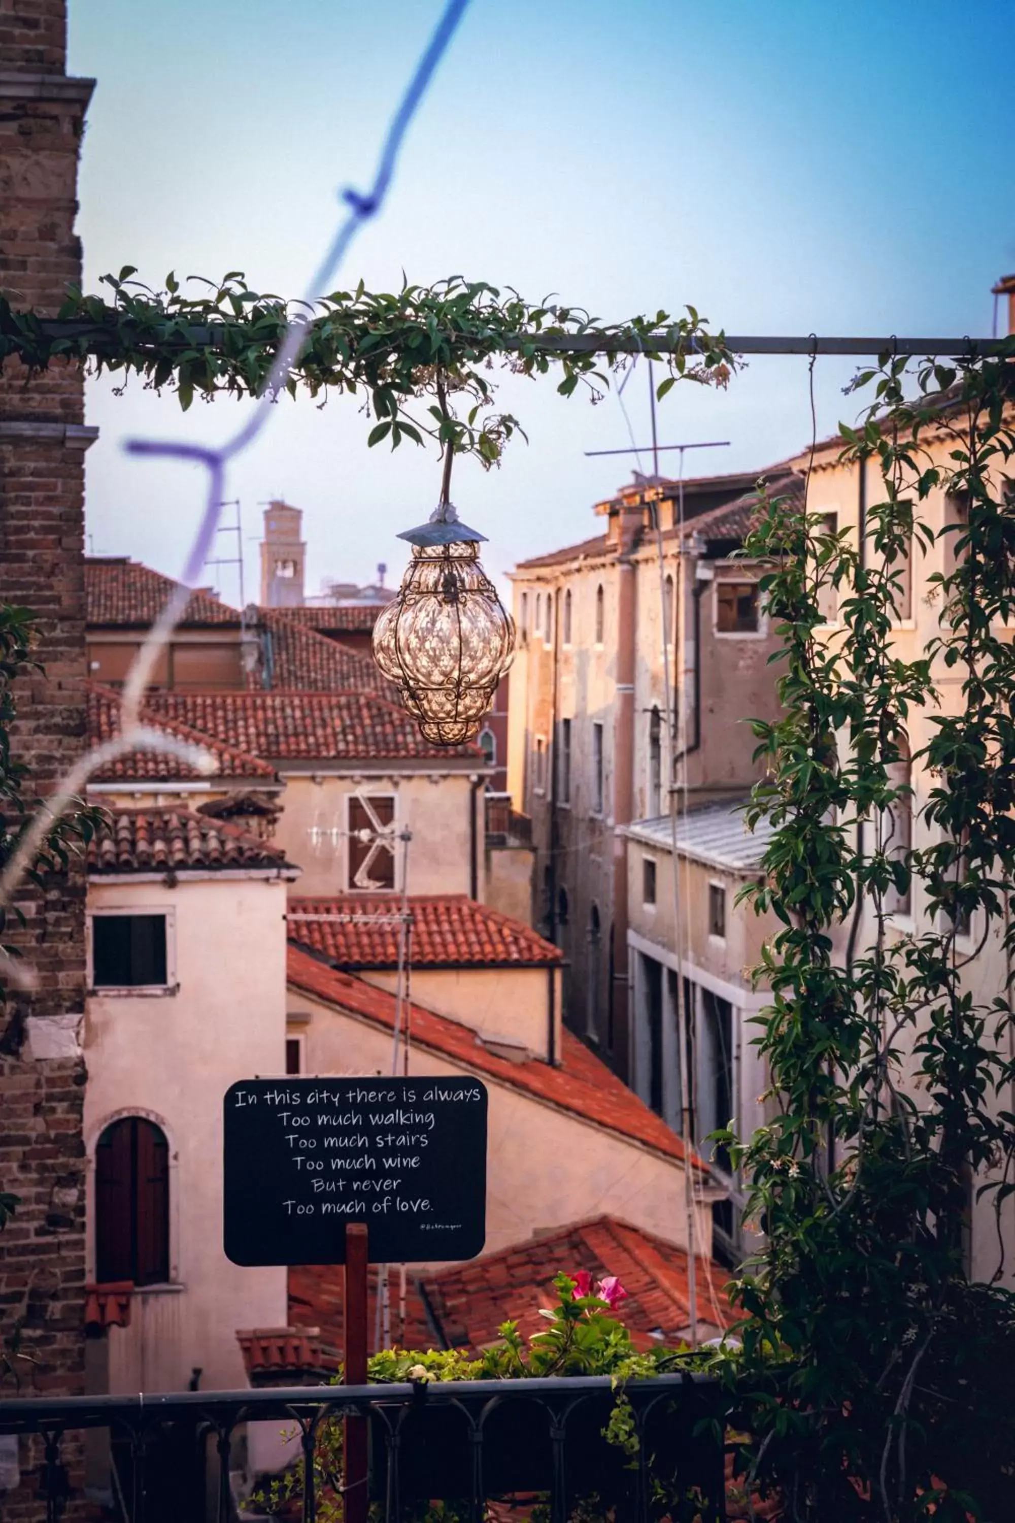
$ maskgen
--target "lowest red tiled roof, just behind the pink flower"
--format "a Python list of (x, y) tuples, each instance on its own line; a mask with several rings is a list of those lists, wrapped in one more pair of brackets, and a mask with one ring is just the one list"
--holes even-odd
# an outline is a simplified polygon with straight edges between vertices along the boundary
[[(674, 1343), (689, 1333), (688, 1253), (616, 1217), (595, 1217), (528, 1238), (499, 1253), (484, 1253), (467, 1264), (426, 1275), (426, 1302), (444, 1348), (479, 1352), (498, 1339), (508, 1317), (523, 1337), (545, 1325), (540, 1307), (557, 1301), (554, 1275), (587, 1270), (593, 1282), (616, 1275), (627, 1301), (615, 1316), (645, 1349), (656, 1342)], [(729, 1270), (697, 1261), (698, 1333), (709, 1323), (717, 1333), (732, 1322), (723, 1293)], [(662, 1334), (662, 1337), (653, 1337)]]

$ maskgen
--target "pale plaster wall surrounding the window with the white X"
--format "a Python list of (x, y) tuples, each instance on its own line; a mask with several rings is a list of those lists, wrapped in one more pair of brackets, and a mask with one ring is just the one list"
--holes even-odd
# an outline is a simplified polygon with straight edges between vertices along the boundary
[[(476, 818), (476, 899), (484, 897), (482, 793), (467, 772), (285, 772), (285, 810), (272, 844), (303, 868), (298, 892), (310, 899), (341, 894), (348, 880), (348, 798), (394, 795), (394, 833), (412, 832), (408, 850), (409, 894), (470, 894), (470, 810)], [(338, 839), (313, 845), (310, 832), (336, 830)], [(402, 888), (403, 847), (396, 842), (396, 888)]]

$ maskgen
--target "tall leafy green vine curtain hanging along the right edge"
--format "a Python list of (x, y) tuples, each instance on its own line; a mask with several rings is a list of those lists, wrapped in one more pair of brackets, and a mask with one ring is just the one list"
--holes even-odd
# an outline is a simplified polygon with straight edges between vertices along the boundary
[[(735, 1145), (765, 1234), (737, 1296), (746, 1459), (793, 1518), (1015, 1515), (1012, 355), (864, 372), (873, 399), (843, 428), (843, 460), (881, 477), (863, 533), (772, 500), (746, 545), (770, 564), (785, 708), (755, 726), (778, 1113)], [(954, 507), (939, 528), (936, 493)], [(939, 629), (905, 659), (905, 579), (934, 545)], [(971, 1276), (974, 1196), (998, 1214), (991, 1284)]]

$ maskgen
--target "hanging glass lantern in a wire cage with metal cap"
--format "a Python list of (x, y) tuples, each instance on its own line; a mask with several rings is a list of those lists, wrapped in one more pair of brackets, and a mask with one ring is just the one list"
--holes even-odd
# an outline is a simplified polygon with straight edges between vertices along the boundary
[(479, 565), (485, 535), (460, 521), (446, 495), (449, 475), (447, 465), (429, 522), (399, 535), (412, 560), (373, 632), (377, 666), (438, 746), (478, 734), (514, 655), (514, 620)]

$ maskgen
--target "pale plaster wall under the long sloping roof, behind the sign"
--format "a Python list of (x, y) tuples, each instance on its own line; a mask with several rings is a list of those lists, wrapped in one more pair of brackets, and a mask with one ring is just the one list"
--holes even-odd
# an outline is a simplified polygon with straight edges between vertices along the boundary
[[(289, 999), (294, 1010), (310, 1016), (300, 1028), (306, 1036), (307, 1072), (390, 1071), (390, 1033), (303, 990), (291, 990)], [(455, 1077), (466, 1072), (422, 1049), (411, 1054), (411, 1071)], [(481, 1077), (490, 1090), (484, 1252), (600, 1212), (615, 1212), (673, 1243), (686, 1243), (683, 1168), (677, 1161)], [(695, 1231), (698, 1250), (711, 1252), (708, 1206), (698, 1208)]]

